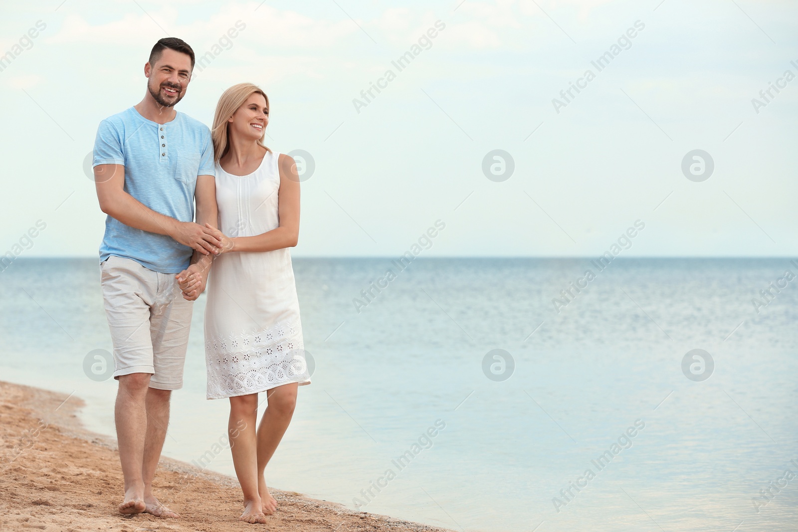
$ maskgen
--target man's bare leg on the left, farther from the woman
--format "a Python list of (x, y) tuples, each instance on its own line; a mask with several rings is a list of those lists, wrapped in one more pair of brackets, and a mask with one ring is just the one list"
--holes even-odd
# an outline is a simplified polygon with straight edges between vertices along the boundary
[(124, 475), (124, 501), (120, 514), (140, 514), (144, 511), (144, 437), (147, 432), (146, 399), (149, 373), (131, 373), (119, 377), (114, 418), (117, 424), (119, 459)]

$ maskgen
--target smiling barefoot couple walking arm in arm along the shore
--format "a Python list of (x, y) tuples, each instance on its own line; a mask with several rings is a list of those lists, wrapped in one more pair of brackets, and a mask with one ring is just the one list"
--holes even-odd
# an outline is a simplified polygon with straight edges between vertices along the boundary
[[(255, 85), (222, 94), (211, 131), (176, 112), (193, 68), (188, 44), (158, 41), (144, 65), (144, 100), (103, 120), (94, 144), (108, 215), (100, 269), (119, 380), (119, 511), (178, 517), (152, 493), (152, 479), (169, 399), (183, 386), (192, 301), (207, 282), (207, 398), (230, 399), (240, 519), (264, 523), (277, 502), (263, 471), (298, 385), (310, 384), (288, 250), (299, 232), (299, 179), (290, 156), (263, 145), (269, 100)], [(259, 392), (268, 402), (256, 430)]]

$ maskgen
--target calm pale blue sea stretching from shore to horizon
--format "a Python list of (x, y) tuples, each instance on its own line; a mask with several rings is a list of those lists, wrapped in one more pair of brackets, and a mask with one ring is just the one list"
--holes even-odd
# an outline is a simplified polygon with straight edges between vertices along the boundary
[[(315, 369), (267, 483), (454, 530), (796, 530), (785, 270), (798, 274), (788, 258), (296, 258)], [(116, 381), (84, 369), (111, 350), (97, 261), (18, 258), (0, 301), (0, 379), (75, 392), (85, 424), (113, 434)], [(227, 401), (205, 399), (203, 307), (164, 454), (233, 475), (216, 445)]]

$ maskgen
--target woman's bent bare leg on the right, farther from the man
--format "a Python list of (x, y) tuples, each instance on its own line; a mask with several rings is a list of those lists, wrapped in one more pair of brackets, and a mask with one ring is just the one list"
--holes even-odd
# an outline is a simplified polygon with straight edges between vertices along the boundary
[(267, 392), (268, 406), (258, 427), (258, 491), (263, 502), (263, 513), (271, 515), (277, 510), (277, 501), (269, 493), (263, 471), (286, 433), (297, 403), (298, 384), (283, 384)]

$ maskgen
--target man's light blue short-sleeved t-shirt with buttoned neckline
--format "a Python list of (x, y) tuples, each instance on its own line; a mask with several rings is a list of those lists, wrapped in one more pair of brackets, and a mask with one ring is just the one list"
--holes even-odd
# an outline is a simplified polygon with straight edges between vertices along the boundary
[[(215, 175), (211, 131), (182, 112), (157, 124), (131, 107), (101, 121), (93, 167), (98, 164), (124, 164), (124, 191), (153, 211), (193, 222), (197, 175)], [(161, 274), (177, 274), (188, 268), (192, 248), (109, 216), (100, 262), (110, 255), (132, 258)]]

